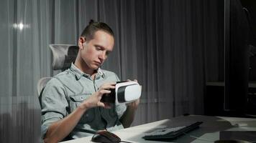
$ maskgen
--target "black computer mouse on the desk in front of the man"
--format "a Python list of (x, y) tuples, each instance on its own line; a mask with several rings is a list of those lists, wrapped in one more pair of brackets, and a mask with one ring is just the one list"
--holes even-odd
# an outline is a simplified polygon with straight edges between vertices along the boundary
[(121, 142), (121, 139), (116, 136), (116, 134), (113, 134), (108, 131), (99, 131), (96, 132), (96, 134), (93, 135), (91, 138), (92, 142), (102, 142), (102, 143), (117, 143)]

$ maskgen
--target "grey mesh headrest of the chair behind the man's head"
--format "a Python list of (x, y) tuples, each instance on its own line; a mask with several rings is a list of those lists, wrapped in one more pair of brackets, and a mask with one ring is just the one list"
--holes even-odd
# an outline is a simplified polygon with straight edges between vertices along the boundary
[(52, 69), (68, 69), (73, 61), (76, 60), (79, 47), (70, 44), (50, 44), (53, 55)]

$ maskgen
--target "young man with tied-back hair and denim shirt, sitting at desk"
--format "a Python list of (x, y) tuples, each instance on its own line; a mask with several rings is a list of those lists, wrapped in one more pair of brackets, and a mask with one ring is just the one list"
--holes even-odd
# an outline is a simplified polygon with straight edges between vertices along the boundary
[(119, 81), (114, 72), (100, 68), (114, 47), (114, 33), (107, 24), (90, 21), (78, 46), (74, 64), (52, 78), (42, 93), (45, 142), (86, 137), (91, 135), (90, 131), (129, 127), (139, 105), (139, 99), (119, 106), (101, 102), (102, 95), (109, 94)]

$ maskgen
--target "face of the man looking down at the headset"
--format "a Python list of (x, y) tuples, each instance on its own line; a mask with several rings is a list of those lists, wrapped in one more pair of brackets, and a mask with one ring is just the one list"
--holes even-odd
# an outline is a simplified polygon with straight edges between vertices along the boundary
[(81, 57), (88, 66), (87, 68), (93, 70), (98, 69), (104, 63), (114, 47), (114, 37), (101, 30), (96, 31), (90, 41), (86, 41), (83, 37), (80, 41), (82, 41)]

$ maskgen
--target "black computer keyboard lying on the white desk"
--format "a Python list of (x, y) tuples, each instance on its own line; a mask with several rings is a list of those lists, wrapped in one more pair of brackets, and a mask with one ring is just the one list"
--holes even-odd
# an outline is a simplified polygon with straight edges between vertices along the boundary
[(146, 140), (157, 140), (157, 141), (177, 139), (181, 135), (187, 132), (190, 132), (193, 129), (197, 129), (199, 125), (202, 123), (203, 122), (193, 122), (186, 126), (155, 129), (155, 131), (145, 134), (145, 136), (142, 138)]

